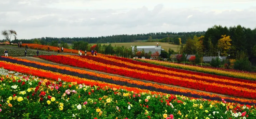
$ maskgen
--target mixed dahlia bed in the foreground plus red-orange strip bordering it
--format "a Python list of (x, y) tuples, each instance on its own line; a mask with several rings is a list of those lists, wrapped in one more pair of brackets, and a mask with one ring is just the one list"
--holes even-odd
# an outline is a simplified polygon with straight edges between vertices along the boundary
[(0, 118), (253, 119), (256, 113), (255, 105), (167, 95), (0, 62), (8, 70), (15, 65), (56, 81), (0, 69)]

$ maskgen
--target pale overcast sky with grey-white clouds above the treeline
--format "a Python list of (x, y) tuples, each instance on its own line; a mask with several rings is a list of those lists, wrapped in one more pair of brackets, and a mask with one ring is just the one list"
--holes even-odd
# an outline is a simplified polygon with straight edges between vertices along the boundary
[[(0, 0), (0, 30), (17, 39), (256, 27), (256, 0)], [(0, 39), (4, 39), (1, 35)]]

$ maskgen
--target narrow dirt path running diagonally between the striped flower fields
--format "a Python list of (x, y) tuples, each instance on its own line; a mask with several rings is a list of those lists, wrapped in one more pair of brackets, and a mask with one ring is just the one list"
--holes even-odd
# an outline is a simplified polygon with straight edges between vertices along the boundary
[[(80, 70), (85, 70), (85, 71), (90, 71), (90, 72), (96, 72), (96, 73), (106, 74), (106, 75), (111, 75), (111, 76), (116, 76), (116, 77), (122, 77), (122, 78), (126, 78), (126, 79), (131, 79), (131, 80), (136, 80), (136, 81), (142, 81), (142, 82), (145, 82), (145, 83), (152, 83), (152, 84), (158, 84), (158, 85), (169, 86), (169, 87), (174, 87), (174, 88), (181, 88), (181, 89), (194, 90), (194, 91), (197, 91), (197, 92), (204, 92), (204, 93), (208, 93), (208, 94), (211, 94), (211, 95), (218, 95), (218, 96), (222, 96), (222, 97), (238, 98), (238, 97), (233, 97), (233, 96), (226, 96), (226, 95), (221, 95), (221, 94), (215, 94), (215, 93), (212, 93), (212, 92), (205, 92), (205, 91), (201, 91), (201, 90), (195, 90), (195, 89), (189, 89), (189, 88), (184, 88), (184, 87), (179, 87), (179, 86), (173, 86), (173, 85), (168, 85), (168, 84), (161, 84), (161, 83), (156, 83), (156, 82), (151, 82), (151, 81), (145, 81), (145, 80), (140, 80), (140, 79), (134, 79), (134, 78), (124, 77), (124, 76), (121, 76), (121, 75), (110, 74), (110, 73), (105, 73), (105, 72), (100, 72), (100, 71), (95, 71), (95, 70), (89, 70), (89, 69), (83, 69), (83, 68), (79, 68), (79, 67), (72, 67), (72, 66), (63, 65), (63, 64), (57, 64), (57, 63), (49, 62), (49, 61), (46, 61), (46, 60), (42, 60), (42, 59), (37, 58), (37, 57), (19, 57), (19, 58), (23, 58), (23, 59), (30, 60), (30, 61), (35, 61), (35, 62), (41, 62), (41, 63), (52, 64), (52, 65), (65, 66), (65, 67), (70, 67), (70, 68), (80, 69)], [(244, 98), (240, 98), (240, 99), (244, 99)], [(250, 99), (247, 99), (247, 100), (250, 100)]]

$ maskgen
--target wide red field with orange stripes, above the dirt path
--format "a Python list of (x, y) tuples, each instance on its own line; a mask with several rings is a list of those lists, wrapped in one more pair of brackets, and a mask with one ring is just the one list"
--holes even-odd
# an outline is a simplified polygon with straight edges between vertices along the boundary
[[(41, 55), (45, 60), (125, 77), (234, 97), (256, 99), (256, 82), (140, 63), (113, 56)], [(240, 93), (238, 93), (240, 92)]]

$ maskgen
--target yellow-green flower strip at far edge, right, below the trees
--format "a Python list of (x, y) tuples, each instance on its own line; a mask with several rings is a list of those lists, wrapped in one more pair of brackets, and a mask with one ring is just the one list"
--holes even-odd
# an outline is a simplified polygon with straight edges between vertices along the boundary
[[(120, 59), (124, 60), (124, 58), (120, 58)], [(203, 73), (209, 73), (209, 74), (215, 74), (215, 75), (222, 75), (226, 77), (247, 79), (247, 80), (253, 80), (253, 81), (256, 80), (256, 73), (250, 73), (246, 71), (219, 70), (218, 68), (203, 68), (203, 67), (197, 67), (197, 66), (191, 66), (191, 65), (182, 65), (182, 64), (168, 63), (168, 62), (162, 62), (162, 61), (148, 60), (148, 59), (135, 59), (135, 60), (146, 63), (146, 64), (150, 63), (150, 64), (166, 66), (171, 68), (178, 68), (178, 69), (185, 69), (185, 70), (197, 71), (197, 72), (203, 72)]]

